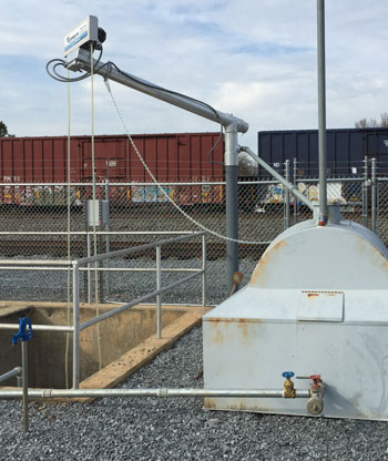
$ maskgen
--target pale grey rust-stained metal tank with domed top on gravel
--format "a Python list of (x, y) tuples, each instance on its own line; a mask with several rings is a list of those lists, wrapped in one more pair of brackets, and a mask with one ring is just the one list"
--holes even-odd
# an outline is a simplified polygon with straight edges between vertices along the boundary
[[(277, 389), (285, 370), (320, 375), (323, 416), (388, 420), (388, 250), (339, 206), (326, 226), (315, 217), (280, 234), (248, 286), (203, 320), (205, 388)], [(308, 416), (299, 399), (205, 407)]]

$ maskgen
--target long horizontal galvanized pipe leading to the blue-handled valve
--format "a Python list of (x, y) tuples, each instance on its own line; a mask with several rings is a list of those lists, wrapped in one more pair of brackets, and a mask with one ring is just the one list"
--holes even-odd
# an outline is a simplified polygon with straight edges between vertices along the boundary
[[(20, 390), (0, 390), (0, 398), (20, 398)], [(224, 397), (224, 398), (284, 398), (282, 390), (255, 389), (29, 389), (29, 398), (100, 398), (100, 397)], [(295, 398), (308, 399), (309, 390), (296, 390)]]

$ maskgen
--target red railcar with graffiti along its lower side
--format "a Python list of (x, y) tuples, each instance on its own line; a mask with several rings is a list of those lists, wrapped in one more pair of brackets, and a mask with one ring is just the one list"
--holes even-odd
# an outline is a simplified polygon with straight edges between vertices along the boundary
[[(178, 186), (169, 183), (212, 183), (224, 180), (223, 142), (208, 155), (219, 133), (133, 135), (147, 166), (180, 204), (219, 203), (221, 185)], [(110, 198), (132, 203), (165, 202), (127, 136), (99, 135), (94, 142), (95, 181), (110, 183)], [(90, 136), (72, 136), (70, 182), (72, 199), (88, 196), (92, 183)], [(0, 137), (0, 204), (64, 205), (68, 183), (67, 136)], [(20, 185), (19, 185), (20, 184)], [(85, 192), (89, 191), (89, 192)], [(99, 196), (105, 188), (98, 187)]]

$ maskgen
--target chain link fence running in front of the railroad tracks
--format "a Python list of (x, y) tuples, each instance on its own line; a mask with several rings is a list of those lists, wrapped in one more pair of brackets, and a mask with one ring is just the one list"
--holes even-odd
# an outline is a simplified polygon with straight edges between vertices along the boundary
[[(328, 199), (340, 202), (345, 218), (375, 230), (387, 244), (386, 166), (375, 160), (366, 160), (350, 167), (329, 167)], [(317, 170), (317, 165), (296, 161), (278, 165), (278, 171), (310, 201), (318, 199)], [(241, 270), (245, 276), (243, 283), (247, 283), (268, 244), (285, 228), (310, 218), (312, 212), (295, 202), (292, 194), (270, 178), (257, 181), (247, 176), (239, 180), (239, 239), (256, 242), (255, 245), (239, 244)], [(163, 182), (163, 188), (193, 219), (225, 235), (224, 182)], [(91, 183), (72, 183), (70, 187), (63, 183), (0, 183), (1, 258), (78, 258), (198, 230), (153, 184), (100, 182), (95, 196), (93, 212)], [(206, 239), (207, 300), (216, 304), (227, 296), (226, 245), (225, 240), (211, 234)], [(197, 268), (201, 252), (201, 242), (170, 245), (163, 249), (163, 265), (166, 268)], [(144, 272), (129, 274), (114, 272), (114, 267), (110, 267), (110, 272), (99, 272), (100, 300), (125, 300), (127, 286), (131, 286), (131, 296), (141, 296), (149, 285), (154, 284), (154, 259), (153, 254), (144, 254), (115, 262), (120, 270), (126, 267)], [(95, 280), (93, 270), (91, 273), (92, 276), (84, 276), (83, 280), (84, 300), (92, 300), (88, 299)], [(31, 275), (30, 281), (23, 279), (20, 283), (20, 273), (2, 269), (0, 275), (1, 299), (63, 301), (69, 297), (67, 272), (41, 272)], [(173, 272), (164, 276), (174, 281)], [(92, 281), (88, 287), (89, 278)], [(39, 280), (42, 286), (37, 289)], [(195, 284), (200, 283), (194, 280), (192, 284), (194, 290)], [(200, 296), (201, 289), (197, 289), (194, 299), (192, 293), (191, 288), (182, 289), (175, 301), (197, 301), (195, 296)]]

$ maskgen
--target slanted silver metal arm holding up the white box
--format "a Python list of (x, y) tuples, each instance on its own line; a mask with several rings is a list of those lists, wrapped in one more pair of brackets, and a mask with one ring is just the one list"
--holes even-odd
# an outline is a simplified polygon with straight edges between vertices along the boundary
[[(212, 120), (213, 122), (219, 123), (224, 126), (234, 123), (236, 125), (237, 131), (241, 133), (247, 132), (249, 127), (249, 125), (246, 122), (244, 122), (241, 119), (237, 119), (234, 115), (216, 111), (208, 104), (205, 104), (201, 101), (194, 100), (184, 94), (178, 94), (176, 92), (169, 91), (162, 86), (155, 85), (154, 83), (150, 83), (146, 80), (140, 79), (126, 72), (122, 72), (109, 62), (103, 63), (101, 61), (98, 62), (96, 60), (93, 60), (93, 62), (95, 65), (94, 73), (103, 76), (104, 79), (113, 80), (114, 82), (121, 83), (125, 86), (130, 86), (133, 90), (149, 94), (150, 96), (162, 100), (169, 104), (176, 105), (181, 109), (184, 109), (185, 111), (203, 116), (204, 119)], [(68, 66), (71, 68), (74, 64), (78, 69), (83, 69), (86, 72), (90, 72), (90, 52), (80, 48), (78, 50), (75, 61), (71, 61), (70, 63), (68, 63)]]

